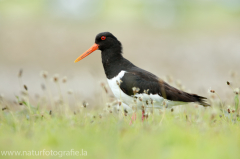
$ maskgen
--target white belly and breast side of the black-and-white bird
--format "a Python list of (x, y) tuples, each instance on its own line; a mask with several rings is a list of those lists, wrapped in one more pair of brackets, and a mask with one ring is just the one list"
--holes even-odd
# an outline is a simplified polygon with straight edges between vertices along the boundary
[[(154, 108), (162, 108), (163, 106), (166, 106), (168, 108), (174, 106), (174, 105), (181, 105), (181, 104), (185, 104), (184, 102), (175, 102), (175, 101), (169, 101), (169, 100), (164, 100), (164, 98), (162, 98), (161, 96), (159, 96), (158, 94), (136, 94), (135, 96), (137, 97), (141, 97), (142, 101), (134, 97), (128, 96), (127, 94), (125, 94), (120, 87), (117, 85), (117, 83), (120, 83), (120, 79), (124, 76), (124, 74), (126, 73), (126, 71), (121, 71), (116, 77), (112, 78), (112, 79), (108, 79), (108, 84), (109, 87), (111, 88), (114, 96), (121, 100), (123, 103), (125, 103), (128, 106), (131, 105), (136, 105), (138, 107), (152, 107), (153, 105), (150, 103), (151, 100), (154, 101)], [(135, 100), (135, 102), (134, 102)], [(147, 102), (148, 101), (148, 104)]]

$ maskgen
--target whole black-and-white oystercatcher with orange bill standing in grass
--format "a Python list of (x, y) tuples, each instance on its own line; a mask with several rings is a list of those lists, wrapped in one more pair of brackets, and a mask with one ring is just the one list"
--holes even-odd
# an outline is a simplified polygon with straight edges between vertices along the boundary
[(125, 59), (122, 56), (121, 42), (110, 32), (99, 33), (95, 44), (74, 62), (82, 60), (95, 50), (101, 50), (108, 84), (115, 97), (122, 100), (124, 109), (129, 109), (131, 104), (150, 108), (150, 103), (154, 103), (154, 108), (171, 108), (189, 102), (209, 106), (207, 98), (178, 90)]

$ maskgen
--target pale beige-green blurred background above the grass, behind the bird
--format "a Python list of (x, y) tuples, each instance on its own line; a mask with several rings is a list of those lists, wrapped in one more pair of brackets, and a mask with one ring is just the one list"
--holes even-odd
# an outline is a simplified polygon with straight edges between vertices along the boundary
[(20, 69), (29, 94), (42, 94), (46, 70), (91, 103), (106, 82), (100, 51), (74, 60), (104, 31), (125, 58), (189, 92), (223, 95), (230, 71), (240, 73), (239, 0), (0, 0), (0, 94), (20, 93)]

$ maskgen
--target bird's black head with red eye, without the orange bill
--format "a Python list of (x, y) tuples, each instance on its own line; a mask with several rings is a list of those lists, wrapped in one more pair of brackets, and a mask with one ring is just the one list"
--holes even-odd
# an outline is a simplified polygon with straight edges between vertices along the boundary
[(99, 33), (95, 38), (98, 49), (103, 51), (112, 47), (122, 47), (118, 39), (110, 32)]

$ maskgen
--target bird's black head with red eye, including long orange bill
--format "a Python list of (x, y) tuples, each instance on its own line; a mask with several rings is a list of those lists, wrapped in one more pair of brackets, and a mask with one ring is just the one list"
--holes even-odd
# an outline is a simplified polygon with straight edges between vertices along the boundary
[(118, 39), (112, 35), (110, 32), (102, 32), (99, 33), (95, 38), (95, 44), (93, 44), (92, 47), (90, 47), (86, 52), (84, 52), (81, 56), (79, 56), (74, 62), (78, 62), (88, 55), (90, 55), (92, 52), (96, 50), (105, 51), (108, 49), (115, 49), (117, 50), (116, 53), (120, 53), (122, 51), (122, 45), (118, 41)]

